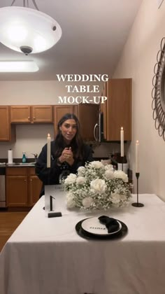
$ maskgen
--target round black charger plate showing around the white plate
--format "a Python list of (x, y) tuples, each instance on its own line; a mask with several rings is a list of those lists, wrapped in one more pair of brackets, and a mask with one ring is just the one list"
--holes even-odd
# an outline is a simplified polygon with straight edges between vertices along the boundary
[[(87, 218), (83, 219), (82, 221), (85, 221), (87, 220)], [(122, 238), (124, 237), (125, 235), (127, 235), (127, 232), (128, 232), (128, 228), (127, 228), (127, 225), (125, 225), (124, 223), (122, 223), (122, 221), (119, 221), (122, 225), (122, 228), (119, 232), (116, 232), (112, 235), (94, 235), (94, 234), (91, 234), (85, 230), (82, 229), (82, 221), (79, 221), (77, 224), (76, 224), (76, 232), (78, 233), (78, 235), (82, 238), (85, 238), (85, 239), (94, 239), (94, 240), (109, 240), (109, 239), (117, 239), (117, 238)]]

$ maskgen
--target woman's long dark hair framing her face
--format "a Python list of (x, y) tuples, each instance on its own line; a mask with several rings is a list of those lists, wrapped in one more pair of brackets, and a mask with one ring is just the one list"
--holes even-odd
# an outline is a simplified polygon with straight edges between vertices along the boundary
[(76, 135), (72, 139), (71, 143), (67, 147), (71, 147), (74, 158), (83, 158), (83, 141), (80, 134), (80, 123), (78, 118), (73, 113), (66, 113), (60, 120), (57, 125), (57, 136), (55, 138), (55, 158), (58, 158), (64, 148), (66, 147), (66, 143), (64, 141), (64, 137), (62, 136), (62, 132), (60, 131), (60, 127), (66, 120), (75, 120), (76, 121)]

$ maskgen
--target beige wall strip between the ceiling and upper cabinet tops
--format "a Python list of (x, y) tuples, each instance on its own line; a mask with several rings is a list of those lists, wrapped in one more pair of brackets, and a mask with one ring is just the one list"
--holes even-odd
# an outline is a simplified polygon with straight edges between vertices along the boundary
[[(99, 93), (87, 93), (93, 97), (101, 94), (102, 82), (88, 82), (99, 85)], [(67, 93), (66, 85), (85, 85), (85, 83), (64, 83), (57, 80), (0, 81), (0, 105), (58, 104), (59, 96), (84, 96), (82, 93)]]

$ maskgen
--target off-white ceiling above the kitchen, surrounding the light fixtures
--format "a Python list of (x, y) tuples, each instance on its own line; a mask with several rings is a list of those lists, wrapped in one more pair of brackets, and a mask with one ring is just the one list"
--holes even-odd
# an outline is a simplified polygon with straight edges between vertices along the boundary
[[(0, 80), (57, 80), (57, 73), (112, 76), (141, 2), (36, 0), (41, 12), (57, 20), (62, 38), (50, 50), (28, 56), (0, 43), (0, 60), (34, 60), (39, 67), (36, 73), (0, 73)], [(0, 8), (11, 3), (1, 0)], [(23, 6), (23, 0), (15, 0), (14, 6)], [(29, 7), (34, 8), (31, 0)]]

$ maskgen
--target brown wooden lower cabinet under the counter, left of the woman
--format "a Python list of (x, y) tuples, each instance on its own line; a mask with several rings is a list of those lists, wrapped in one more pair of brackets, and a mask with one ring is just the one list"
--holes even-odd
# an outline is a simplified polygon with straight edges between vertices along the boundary
[(41, 186), (34, 167), (7, 167), (6, 206), (32, 207), (39, 199)]

